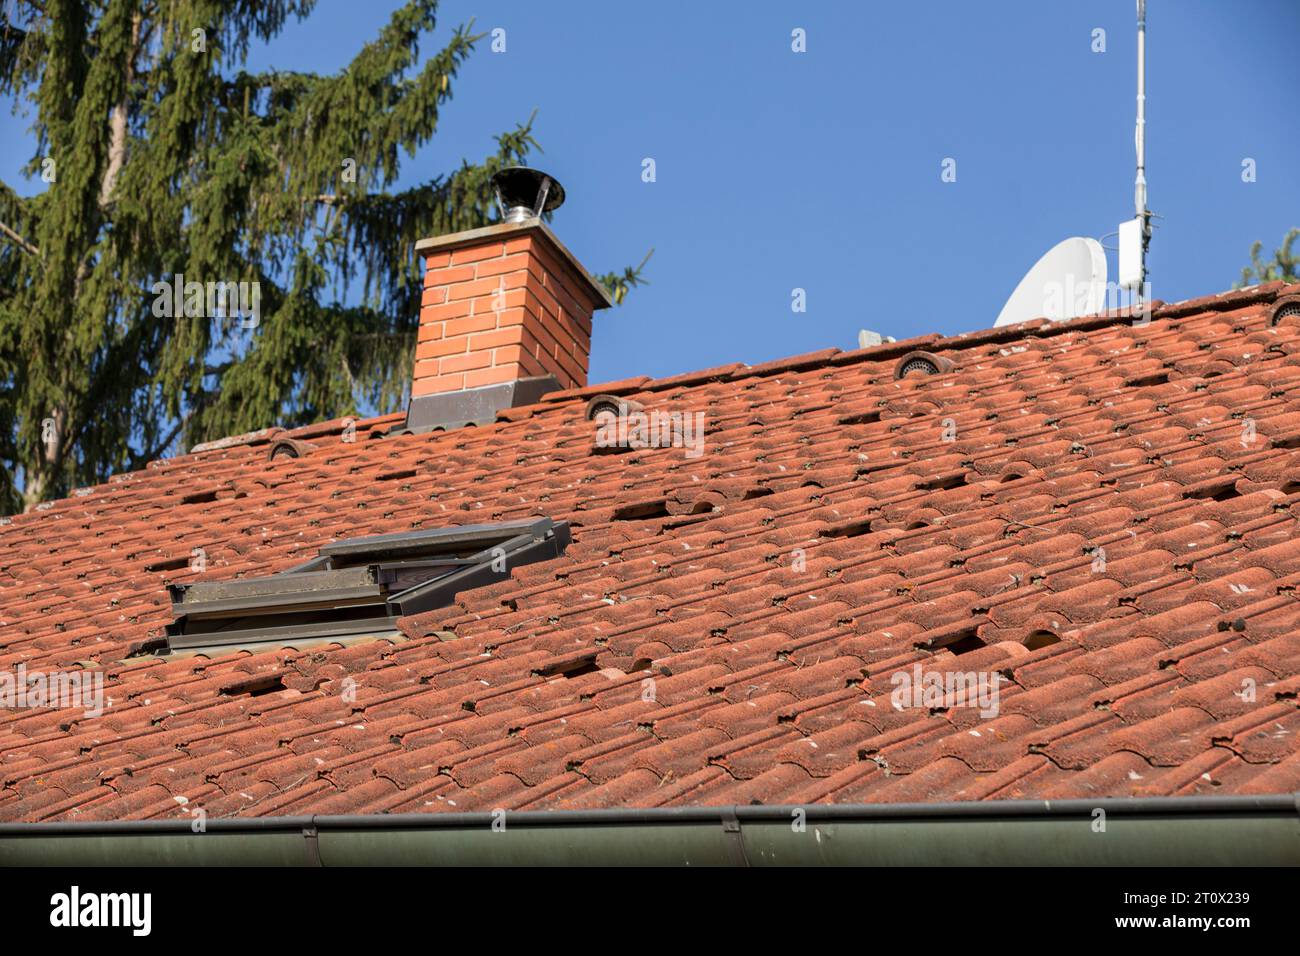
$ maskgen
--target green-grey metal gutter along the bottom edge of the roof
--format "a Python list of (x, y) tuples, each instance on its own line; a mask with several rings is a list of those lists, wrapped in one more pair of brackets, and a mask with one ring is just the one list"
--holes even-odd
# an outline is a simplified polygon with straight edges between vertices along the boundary
[[(1105, 829), (1100, 829), (1104, 813)], [(1300, 795), (0, 823), (5, 866), (1296, 866)]]

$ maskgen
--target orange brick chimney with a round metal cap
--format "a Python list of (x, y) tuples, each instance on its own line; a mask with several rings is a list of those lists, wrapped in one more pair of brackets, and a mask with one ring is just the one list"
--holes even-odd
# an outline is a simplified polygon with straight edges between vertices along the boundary
[(540, 217), (564, 193), (519, 168), (494, 183), (506, 221), (416, 243), (425, 278), (412, 432), (489, 423), (502, 408), (586, 385), (592, 315), (612, 303)]

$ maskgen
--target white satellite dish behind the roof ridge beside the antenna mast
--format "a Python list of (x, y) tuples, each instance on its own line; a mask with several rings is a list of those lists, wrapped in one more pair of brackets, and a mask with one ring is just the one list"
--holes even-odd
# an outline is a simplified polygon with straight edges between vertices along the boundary
[(1074, 237), (1049, 248), (1024, 273), (993, 325), (1096, 315), (1105, 300), (1106, 251), (1096, 239)]

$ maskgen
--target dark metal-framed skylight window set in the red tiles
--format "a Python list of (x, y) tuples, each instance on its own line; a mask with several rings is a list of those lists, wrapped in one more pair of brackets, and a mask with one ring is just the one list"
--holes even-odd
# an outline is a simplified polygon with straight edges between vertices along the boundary
[(346, 538), (281, 574), (173, 584), (169, 652), (303, 644), (396, 631), (396, 619), (446, 607), (463, 591), (558, 558), (567, 522), (529, 518)]

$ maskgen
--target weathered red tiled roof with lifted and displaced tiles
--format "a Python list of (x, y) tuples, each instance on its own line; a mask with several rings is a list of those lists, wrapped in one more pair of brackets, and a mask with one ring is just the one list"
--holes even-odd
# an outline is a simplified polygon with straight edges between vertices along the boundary
[[(0, 528), (0, 669), (103, 667), (109, 700), (0, 714), (0, 819), (1300, 790), (1279, 289), (614, 389), (706, 412), (698, 458), (598, 454), (593, 386), (450, 433), (266, 429), (43, 505)], [(953, 371), (896, 381), (915, 349)], [(263, 575), (538, 514), (562, 558), (404, 641), (130, 656), (196, 548)], [(915, 663), (1005, 675), (998, 715), (892, 706)]]

